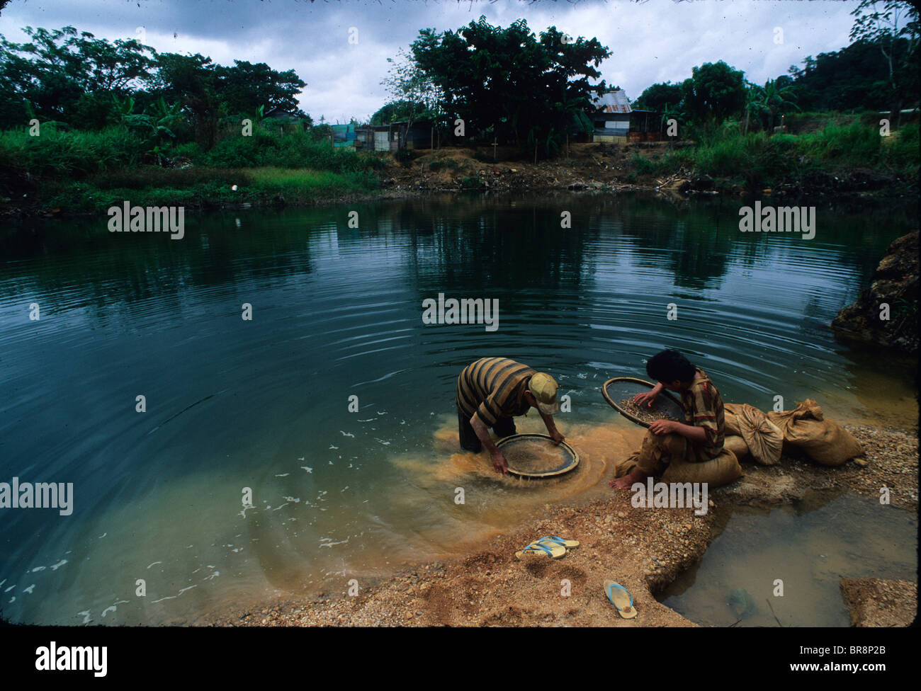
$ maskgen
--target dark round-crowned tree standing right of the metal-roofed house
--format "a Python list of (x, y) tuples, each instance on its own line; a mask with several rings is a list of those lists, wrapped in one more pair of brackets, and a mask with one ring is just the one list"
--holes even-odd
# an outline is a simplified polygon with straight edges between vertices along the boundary
[(722, 60), (704, 63), (682, 82), (682, 97), (691, 119), (710, 129), (745, 107), (745, 80)]

